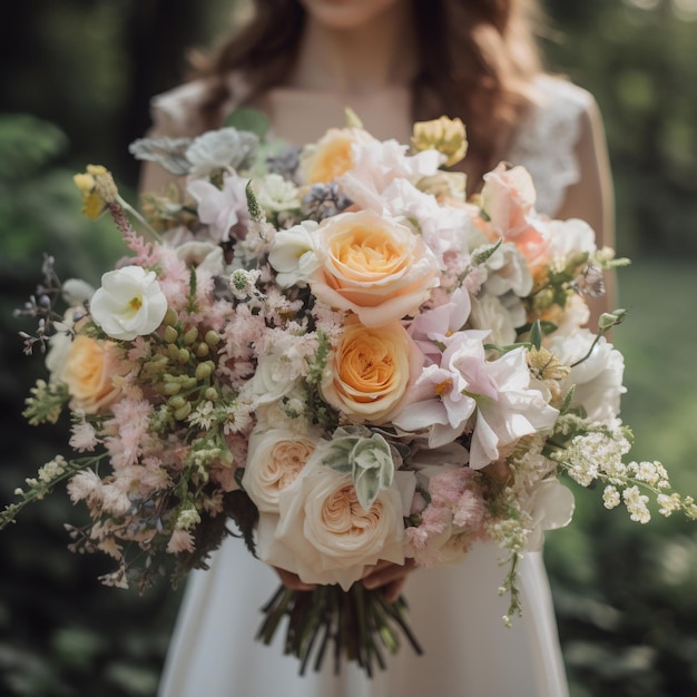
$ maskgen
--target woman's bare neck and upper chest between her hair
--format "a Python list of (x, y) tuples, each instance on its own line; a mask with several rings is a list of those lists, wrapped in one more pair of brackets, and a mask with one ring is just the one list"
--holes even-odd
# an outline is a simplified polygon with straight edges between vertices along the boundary
[(334, 29), (308, 14), (286, 86), (361, 94), (410, 85), (418, 65), (410, 2), (352, 29)]

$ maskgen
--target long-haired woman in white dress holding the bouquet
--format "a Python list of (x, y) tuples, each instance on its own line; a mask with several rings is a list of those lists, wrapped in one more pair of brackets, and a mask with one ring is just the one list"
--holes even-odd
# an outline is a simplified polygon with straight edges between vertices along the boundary
[[(151, 136), (193, 136), (230, 109), (263, 109), (274, 134), (301, 145), (343, 125), (351, 107), (377, 138), (406, 143), (414, 120), (459, 116), (470, 192), (505, 159), (531, 171), (538, 208), (581, 217), (612, 243), (611, 186), (602, 127), (586, 91), (544, 76), (522, 0), (257, 0), (246, 29), (223, 45), (199, 79), (154, 100)], [(144, 169), (141, 187), (165, 173)], [(595, 314), (605, 310), (598, 305)], [(592, 325), (591, 325), (592, 326)], [(521, 565), (524, 613), (503, 627), (505, 600), (491, 544), (455, 568), (380, 565), (367, 587), (404, 591), (424, 646), (410, 647), (366, 680), (353, 666), (297, 676), (282, 647), (253, 640), (278, 577), (228, 539), (207, 571), (192, 575), (160, 697), (284, 695), (568, 694), (548, 582), (539, 553)], [(293, 588), (300, 579), (278, 572)]]

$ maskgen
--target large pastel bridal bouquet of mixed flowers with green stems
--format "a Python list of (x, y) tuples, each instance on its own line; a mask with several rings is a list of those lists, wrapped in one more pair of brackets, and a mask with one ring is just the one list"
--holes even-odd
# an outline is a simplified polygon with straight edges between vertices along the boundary
[(697, 507), (660, 463), (626, 462), (624, 362), (606, 338), (624, 311), (583, 328), (602, 269), (625, 261), (582, 220), (540, 215), (521, 167), (468, 198), (448, 169), (465, 156), (460, 121), (415, 124), (403, 145), (348, 116), (302, 148), (235, 120), (136, 141), (180, 181), (141, 213), (104, 167), (76, 177), (130, 254), (97, 289), (47, 259), (20, 312), (40, 318), (23, 337), (49, 373), (24, 414), (67, 410), (75, 457), (41, 467), (1, 521), (67, 481), (90, 516), (68, 527), (72, 549), (109, 554), (101, 580), (143, 590), (205, 568), (232, 520), (264, 562), (318, 585), (282, 587), (261, 638), (287, 618), (302, 670), (333, 644), (370, 674), (400, 634), (419, 650), (404, 600), (360, 583), (376, 562), (453, 565), (492, 541), (510, 622), (519, 559), (571, 519), (560, 478), (600, 482), (640, 522), (649, 495), (665, 516)]

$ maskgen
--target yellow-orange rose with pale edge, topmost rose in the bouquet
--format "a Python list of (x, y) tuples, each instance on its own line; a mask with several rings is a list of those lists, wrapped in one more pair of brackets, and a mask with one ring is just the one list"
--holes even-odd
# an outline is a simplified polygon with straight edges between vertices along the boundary
[(330, 128), (317, 143), (306, 146), (301, 157), (304, 184), (328, 184), (354, 165), (353, 146), (374, 138), (362, 128)]

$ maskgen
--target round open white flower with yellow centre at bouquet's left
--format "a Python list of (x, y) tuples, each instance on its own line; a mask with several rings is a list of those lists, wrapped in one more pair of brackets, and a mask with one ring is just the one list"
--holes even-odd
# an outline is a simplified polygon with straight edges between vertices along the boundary
[(125, 266), (101, 276), (90, 302), (95, 323), (112, 338), (130, 341), (154, 332), (165, 318), (167, 297), (155, 272)]

